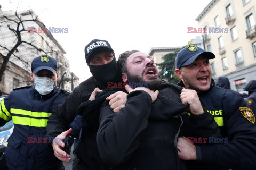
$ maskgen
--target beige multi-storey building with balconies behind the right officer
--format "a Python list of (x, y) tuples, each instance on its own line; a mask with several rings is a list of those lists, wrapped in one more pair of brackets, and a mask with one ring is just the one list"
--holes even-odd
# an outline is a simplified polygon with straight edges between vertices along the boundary
[(256, 79), (256, 1), (212, 0), (196, 18), (210, 60), (213, 79), (229, 78), (233, 90), (244, 92)]

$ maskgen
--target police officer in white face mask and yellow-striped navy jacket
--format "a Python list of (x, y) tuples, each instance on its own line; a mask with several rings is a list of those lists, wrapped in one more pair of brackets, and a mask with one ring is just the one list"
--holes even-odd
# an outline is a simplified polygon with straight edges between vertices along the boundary
[(31, 80), (35, 86), (14, 89), (0, 104), (0, 126), (13, 120), (14, 129), (5, 150), (9, 169), (64, 169), (46, 147), (46, 125), (53, 109), (69, 92), (56, 87), (57, 61), (47, 55), (34, 58)]

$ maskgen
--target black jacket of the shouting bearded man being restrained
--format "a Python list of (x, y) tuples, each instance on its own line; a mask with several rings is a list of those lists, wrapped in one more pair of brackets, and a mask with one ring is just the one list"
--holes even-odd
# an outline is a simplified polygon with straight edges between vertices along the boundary
[(147, 92), (138, 90), (127, 95), (126, 107), (118, 113), (113, 113), (108, 101), (100, 107), (97, 146), (111, 169), (186, 169), (174, 142), (181, 125), (177, 115), (191, 123), (184, 124), (185, 130), (194, 129), (204, 137), (218, 135), (213, 117), (208, 113), (189, 117), (188, 105), (180, 102), (181, 88), (167, 84), (153, 104)]

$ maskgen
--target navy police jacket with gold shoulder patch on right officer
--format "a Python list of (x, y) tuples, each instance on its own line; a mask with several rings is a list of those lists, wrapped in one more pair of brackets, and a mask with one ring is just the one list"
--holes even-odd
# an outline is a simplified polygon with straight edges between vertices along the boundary
[[(183, 82), (179, 85), (184, 87)], [(201, 155), (197, 155), (200, 164), (190, 169), (255, 169), (256, 127), (249, 121), (255, 117), (245, 100), (215, 86), (213, 79), (210, 89), (198, 96), (220, 126), (222, 139), (212, 141), (213, 145), (197, 147), (201, 151)], [(247, 112), (251, 117), (246, 116)]]

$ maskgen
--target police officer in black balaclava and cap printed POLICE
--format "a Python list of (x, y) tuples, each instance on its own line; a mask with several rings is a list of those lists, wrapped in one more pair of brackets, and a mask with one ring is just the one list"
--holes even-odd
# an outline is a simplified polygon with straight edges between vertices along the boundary
[[(118, 74), (117, 71), (115, 53), (108, 41), (100, 39), (92, 40), (85, 46), (85, 59), (93, 76), (80, 83), (71, 92), (69, 97), (57, 107), (56, 113), (50, 117), (48, 122), (47, 137), (58, 136), (58, 138), (65, 138), (72, 131), (72, 129), (69, 129), (70, 123), (73, 122), (78, 114), (81, 114), (78, 108), (86, 103), (86, 101), (94, 100), (96, 93), (102, 91), (100, 89), (107, 88), (107, 82), (121, 82), (121, 74)], [(124, 94), (125, 99), (126, 95)], [(85, 137), (85, 140), (82, 139), (79, 141), (76, 151), (76, 155), (79, 158), (77, 169), (107, 168), (102, 162), (98, 162), (100, 155), (93, 133), (95, 133), (95, 130), (90, 131), (87, 129), (86, 134), (88, 136)], [(62, 161), (68, 162), (70, 155), (61, 150), (64, 146), (65, 143), (63, 142), (52, 143), (55, 156)]]

